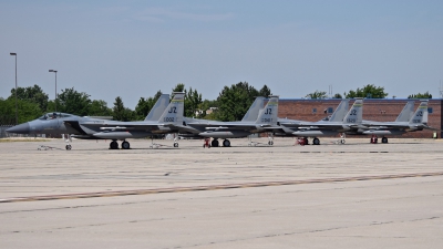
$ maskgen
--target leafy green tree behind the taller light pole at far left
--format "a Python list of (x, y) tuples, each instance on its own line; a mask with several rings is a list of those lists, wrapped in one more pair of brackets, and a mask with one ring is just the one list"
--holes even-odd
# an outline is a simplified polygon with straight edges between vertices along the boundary
[[(16, 100), (16, 89), (11, 90), (11, 95), (8, 98)], [(42, 112), (47, 111), (49, 97), (39, 85), (17, 87), (17, 98), (35, 103)]]

